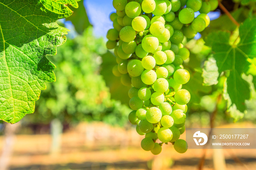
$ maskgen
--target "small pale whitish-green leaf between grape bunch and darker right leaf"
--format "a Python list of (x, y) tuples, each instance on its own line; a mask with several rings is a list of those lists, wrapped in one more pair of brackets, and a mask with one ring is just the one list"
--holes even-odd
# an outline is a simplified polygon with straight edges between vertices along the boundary
[(218, 67), (216, 60), (211, 56), (204, 62), (202, 77), (204, 79), (204, 85), (211, 86), (218, 84)]

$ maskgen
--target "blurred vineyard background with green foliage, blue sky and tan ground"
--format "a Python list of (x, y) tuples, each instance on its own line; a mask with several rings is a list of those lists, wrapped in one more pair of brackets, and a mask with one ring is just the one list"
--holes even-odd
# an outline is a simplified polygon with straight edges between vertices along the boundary
[[(250, 4), (235, 9), (228, 3), (232, 1), (223, 1), (229, 11), (234, 10), (239, 22), (249, 15)], [(79, 8), (72, 9), (74, 14), (59, 21), (71, 31), (67, 42), (57, 47), (57, 55), (48, 56), (57, 67), (57, 81), (46, 84), (47, 90), (36, 102), (34, 114), (14, 125), (0, 123), (0, 170), (189, 170), (197, 169), (204, 154), (204, 169), (256, 169), (256, 150), (252, 149), (188, 150), (178, 154), (173, 146), (164, 146), (162, 153), (154, 156), (140, 148), (143, 136), (127, 119), (131, 112), (127, 105), (129, 88), (113, 76), (115, 57), (113, 51), (106, 49), (106, 38), (102, 37), (112, 27), (110, 20), (106, 21), (114, 11), (111, 5), (111, 0), (79, 1)], [(212, 20), (203, 34), (224, 23), (228, 27), (225, 29), (235, 29), (219, 10), (211, 14), (211, 19), (219, 15), (218, 21)], [(198, 35), (187, 48), (191, 57), (184, 67), (192, 76), (185, 86), (191, 92), (186, 127), (255, 128), (256, 92), (252, 77), (244, 76), (254, 89), (252, 100), (246, 101), (246, 114), (232, 107), (226, 110), (228, 103), (221, 90), (225, 88), (224, 77), (218, 79), (217, 85), (204, 86), (207, 82), (201, 76), (209, 47)], [(181, 138), (185, 139), (185, 134)]]

